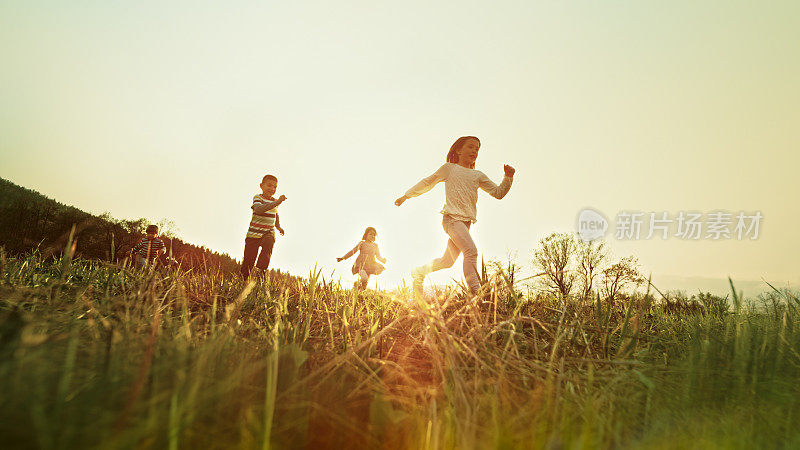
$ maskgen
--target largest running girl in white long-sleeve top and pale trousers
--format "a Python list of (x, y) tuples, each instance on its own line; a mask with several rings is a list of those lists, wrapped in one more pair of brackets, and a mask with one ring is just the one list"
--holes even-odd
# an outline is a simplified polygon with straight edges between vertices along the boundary
[(467, 285), (473, 294), (480, 290), (478, 249), (469, 234), (470, 225), (478, 221), (475, 208), (478, 202), (478, 188), (483, 189), (492, 197), (501, 199), (511, 189), (511, 183), (514, 180), (514, 168), (509, 165), (503, 166), (505, 177), (499, 186), (494, 184), (483, 172), (475, 170), (475, 160), (478, 158), (480, 147), (481, 141), (474, 136), (458, 138), (447, 153), (447, 162), (433, 175), (423, 178), (394, 202), (395, 205), (400, 206), (409, 198), (422, 195), (440, 181), (444, 181), (446, 202), (441, 211), (442, 227), (450, 239), (447, 241), (447, 248), (441, 258), (434, 259), (411, 271), (414, 290), (417, 292), (422, 291), (422, 283), (427, 274), (452, 267), (460, 253), (464, 253), (464, 278), (467, 280)]

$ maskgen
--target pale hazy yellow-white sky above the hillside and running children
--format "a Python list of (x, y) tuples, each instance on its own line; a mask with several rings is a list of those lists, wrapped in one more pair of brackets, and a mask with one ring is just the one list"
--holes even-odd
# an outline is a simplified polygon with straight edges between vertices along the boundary
[(443, 186), (393, 200), (476, 135), (517, 169), (480, 194), (486, 259), (586, 206), (761, 211), (753, 241), (608, 240), (657, 282), (800, 280), (797, 2), (168, 3), (0, 4), (0, 176), (240, 259), (274, 174), (273, 268), (349, 283), (371, 225), (392, 288), (446, 243)]

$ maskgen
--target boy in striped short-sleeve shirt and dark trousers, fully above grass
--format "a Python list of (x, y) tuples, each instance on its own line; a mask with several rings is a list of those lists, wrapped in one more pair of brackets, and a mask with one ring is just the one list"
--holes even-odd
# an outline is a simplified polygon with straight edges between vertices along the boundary
[[(283, 228), (278, 218), (278, 206), (286, 200), (285, 195), (275, 200), (273, 195), (278, 190), (278, 179), (273, 175), (266, 175), (261, 180), (261, 194), (253, 197), (253, 216), (250, 219), (250, 228), (244, 239), (244, 258), (242, 259), (242, 276), (247, 279), (253, 269), (265, 272), (269, 267), (272, 257), (272, 247), (275, 245), (275, 230), (283, 236)], [(259, 255), (259, 248), (261, 254)], [(256, 261), (258, 256), (258, 261)]]

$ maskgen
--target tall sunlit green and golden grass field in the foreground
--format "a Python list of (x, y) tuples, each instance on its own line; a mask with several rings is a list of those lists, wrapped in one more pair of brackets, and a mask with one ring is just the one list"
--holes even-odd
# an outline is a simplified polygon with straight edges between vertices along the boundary
[[(492, 271), (490, 271), (492, 272)], [(800, 448), (800, 302), (2, 257), (5, 448)]]

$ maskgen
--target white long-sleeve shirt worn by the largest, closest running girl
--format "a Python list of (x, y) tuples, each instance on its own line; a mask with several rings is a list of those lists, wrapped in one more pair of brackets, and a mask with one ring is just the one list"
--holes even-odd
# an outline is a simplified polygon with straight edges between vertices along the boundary
[(444, 181), (446, 202), (441, 213), (452, 216), (457, 220), (478, 221), (476, 205), (478, 203), (478, 188), (483, 189), (494, 198), (505, 197), (513, 178), (503, 177), (500, 185), (494, 184), (483, 172), (467, 169), (455, 163), (445, 163), (429, 177), (425, 177), (406, 191), (406, 197), (422, 195)]

